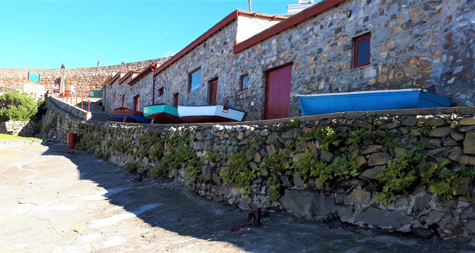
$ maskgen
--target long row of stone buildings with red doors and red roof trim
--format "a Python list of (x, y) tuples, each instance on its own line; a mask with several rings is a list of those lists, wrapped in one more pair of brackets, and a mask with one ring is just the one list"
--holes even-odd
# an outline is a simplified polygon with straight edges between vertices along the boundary
[(425, 88), (472, 106), (474, 7), (325, 0), (288, 19), (236, 10), (126, 96), (155, 86), (140, 106), (225, 104), (244, 120), (300, 116), (295, 94)]

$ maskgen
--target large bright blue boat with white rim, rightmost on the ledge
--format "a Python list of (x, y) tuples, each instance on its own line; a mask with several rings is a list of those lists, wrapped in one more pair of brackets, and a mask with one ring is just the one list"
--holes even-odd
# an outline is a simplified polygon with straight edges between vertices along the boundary
[(347, 112), (450, 107), (452, 100), (423, 89), (295, 95), (302, 116)]

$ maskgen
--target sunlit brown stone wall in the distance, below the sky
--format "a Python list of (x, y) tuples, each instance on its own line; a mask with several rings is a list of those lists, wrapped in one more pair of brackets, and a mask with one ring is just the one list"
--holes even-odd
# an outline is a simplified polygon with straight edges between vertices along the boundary
[[(6, 69), (0, 68), (0, 93), (9, 91), (26, 92), (40, 97), (45, 90), (53, 89), (65, 75), (68, 84), (76, 86), (79, 96), (88, 97), (91, 90), (100, 90), (104, 81), (119, 71), (141, 71), (152, 62), (163, 63), (165, 58), (131, 62), (129, 64), (79, 69)], [(40, 82), (28, 81), (28, 73), (40, 74)], [(67, 89), (68, 87), (66, 87)]]

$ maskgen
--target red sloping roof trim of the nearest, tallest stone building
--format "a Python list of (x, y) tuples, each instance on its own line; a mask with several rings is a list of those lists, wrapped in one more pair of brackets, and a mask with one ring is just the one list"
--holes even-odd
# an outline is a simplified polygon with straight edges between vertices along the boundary
[(286, 30), (287, 28), (290, 28), (292, 26), (295, 26), (299, 24), (302, 21), (305, 21), (313, 16), (316, 16), (334, 6), (337, 6), (341, 3), (345, 2), (345, 0), (324, 0), (323, 2), (320, 2), (298, 14), (295, 14), (294, 16), (290, 17), (289, 19), (282, 21), (274, 26), (271, 26), (269, 29), (264, 30), (251, 38), (237, 44), (234, 46), (234, 49), (232, 50), (232, 53), (238, 53), (241, 52), (242, 50), (255, 45), (283, 30)]

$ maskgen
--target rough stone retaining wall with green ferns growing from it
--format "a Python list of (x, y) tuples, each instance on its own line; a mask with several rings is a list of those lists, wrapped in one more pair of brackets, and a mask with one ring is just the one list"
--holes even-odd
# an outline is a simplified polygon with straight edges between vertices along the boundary
[[(53, 115), (62, 117), (62, 123), (57, 120), (56, 125), (59, 141), (65, 141), (66, 133), (77, 133), (79, 144), (84, 140), (83, 147), (90, 152), (109, 154), (109, 160), (121, 166), (131, 162), (160, 164), (158, 157), (144, 155), (144, 150), (159, 145), (163, 154), (170, 154), (172, 140), (181, 137), (182, 144), (193, 149), (200, 168), (193, 179), (189, 179), (186, 162), (193, 158), (188, 158), (181, 163), (181, 169), (170, 170), (168, 176), (207, 199), (225, 201), (242, 209), (252, 206), (284, 209), (307, 219), (337, 219), (362, 227), (412, 232), (421, 238), (440, 236), (475, 244), (475, 188), (472, 177), (460, 177), (462, 171), (470, 175), (474, 172), (474, 113), (474, 107), (458, 107), (335, 113), (299, 117), (290, 122), (282, 119), (175, 127), (80, 122), (54, 109), (43, 117), (43, 124), (51, 123)], [(305, 139), (314, 130), (367, 135), (357, 141), (348, 139), (337, 144), (335, 140), (325, 143), (325, 139)], [(151, 146), (141, 146), (144, 138), (140, 137), (151, 134), (158, 139)], [(454, 177), (458, 180), (456, 192), (444, 198), (436, 196), (431, 193), (433, 188), (417, 179), (406, 192), (396, 193), (386, 204), (376, 201), (377, 193), (382, 193), (383, 185), (387, 185), (376, 174), (394, 168), (392, 164), (405, 159), (405, 154), (413, 148), (421, 152), (417, 153), (419, 158), (424, 157), (423, 163), (414, 165), (415, 175), (419, 178), (422, 168), (450, 161), (444, 169), (459, 173)], [(213, 153), (216, 156), (210, 158)], [(235, 154), (242, 154), (245, 159), (243, 172), (260, 172), (248, 179), (249, 187), (225, 184), (220, 176), (222, 171), (231, 169), (232, 159), (237, 161)], [(325, 166), (351, 161), (357, 172), (319, 182), (323, 174), (315, 176), (302, 170), (304, 168), (298, 169), (300, 160), (308, 159), (308, 155), (315, 163)], [(280, 157), (279, 166), (266, 167), (270, 164), (269, 157)], [(432, 179), (439, 180), (437, 175)], [(274, 179), (278, 183), (272, 182)]]

